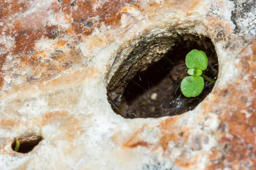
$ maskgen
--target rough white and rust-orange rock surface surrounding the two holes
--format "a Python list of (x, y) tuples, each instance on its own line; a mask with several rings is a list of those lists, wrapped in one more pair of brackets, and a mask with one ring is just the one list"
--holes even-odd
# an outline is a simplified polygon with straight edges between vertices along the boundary
[[(0, 169), (256, 169), (255, 8), (255, 0), (1, 0)], [(116, 115), (106, 86), (119, 65), (142, 40), (156, 46), (144, 42), (133, 63), (161, 57), (184, 33), (215, 45), (212, 93), (180, 116)], [(43, 140), (15, 153), (14, 138), (29, 136)]]

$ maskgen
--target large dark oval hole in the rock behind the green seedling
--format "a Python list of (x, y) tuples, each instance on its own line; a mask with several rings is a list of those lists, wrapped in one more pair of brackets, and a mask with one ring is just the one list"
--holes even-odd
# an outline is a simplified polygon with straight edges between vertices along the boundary
[[(177, 34), (174, 39), (172, 48), (158, 61), (133, 67), (144, 62), (137, 57), (143, 53), (137, 50), (143, 46), (139, 44), (120, 64), (107, 86), (108, 101), (116, 114), (130, 119), (174, 116), (193, 110), (212, 91), (213, 85), (206, 80), (199, 96), (188, 98), (180, 90), (182, 79), (188, 76), (185, 57), (193, 49), (207, 54), (208, 67), (203, 74), (216, 81), (218, 58), (211, 40), (191, 34)], [(133, 58), (134, 63), (126, 66)]]

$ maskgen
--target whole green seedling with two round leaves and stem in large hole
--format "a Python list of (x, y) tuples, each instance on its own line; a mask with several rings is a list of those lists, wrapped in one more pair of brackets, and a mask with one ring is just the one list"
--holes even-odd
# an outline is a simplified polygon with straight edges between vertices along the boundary
[(204, 79), (215, 84), (215, 81), (203, 74), (207, 68), (208, 59), (203, 51), (192, 50), (186, 55), (186, 66), (190, 76), (185, 77), (180, 85), (181, 91), (186, 97), (195, 97), (201, 94), (204, 88)]

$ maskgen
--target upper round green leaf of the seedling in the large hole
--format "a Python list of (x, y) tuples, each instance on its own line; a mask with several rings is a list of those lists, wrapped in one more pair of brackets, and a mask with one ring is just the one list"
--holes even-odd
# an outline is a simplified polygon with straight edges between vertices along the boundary
[(186, 55), (186, 66), (188, 68), (205, 70), (208, 65), (208, 59), (204, 51), (192, 50)]

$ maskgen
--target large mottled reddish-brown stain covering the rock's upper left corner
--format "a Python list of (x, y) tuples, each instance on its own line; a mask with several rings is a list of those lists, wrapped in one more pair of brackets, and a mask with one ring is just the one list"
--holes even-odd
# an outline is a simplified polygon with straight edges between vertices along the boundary
[[(47, 9), (38, 8), (37, 11), (21, 17), (24, 12), (29, 11), (34, 6), (33, 3), (27, 1), (20, 3), (19, 0), (4, 1), (0, 4), (0, 20), (3, 20), (5, 23), (11, 23), (12, 26), (6, 27), (3, 25), (0, 26), (0, 29), (6, 29), (3, 31), (4, 34), (15, 39), (14, 46), (8, 53), (20, 57), (21, 62), (17, 67), (32, 68), (31, 73), (26, 76), (27, 81), (33, 83), (39, 81), (39, 79), (50, 79), (58, 75), (60, 71), (70, 68), (73, 64), (81, 61), (80, 54), (73, 55), (74, 52), (71, 52), (69, 55), (56, 51), (52, 56), (46, 56), (47, 54), (44, 54), (43, 51), (35, 50), (35, 42), (41, 38), (61, 39), (61, 37), (68, 34), (73, 40), (72, 42), (67, 42), (67, 47), (73, 48), (74, 45), (81, 42), (81, 37), (92, 34), (94, 29), (100, 27), (102, 23), (105, 23), (107, 26), (119, 26), (122, 15), (119, 12), (120, 9), (125, 8), (127, 4), (131, 3), (134, 3), (134, 1), (111, 0), (102, 3), (98, 0), (56, 0)], [(57, 19), (64, 15), (64, 18), (70, 23), (71, 27), (62, 28), (61, 26), (51, 25), (51, 22), (47, 19), (50, 17), (49, 11), (53, 11), (52, 14), (55, 14)], [(14, 15), (17, 16), (17, 20), (12, 19)], [(78, 53), (76, 52), (76, 54)], [(63, 62), (50, 62), (50, 60), (42, 59), (41, 57), (51, 57), (53, 60), (62, 58)], [(63, 57), (67, 57), (67, 59)], [(5, 56), (1, 56), (0, 68), (4, 64), (5, 58)], [(12, 70), (15, 70), (15, 68)], [(3, 74), (2, 71), (0, 74), (0, 89), (4, 83)], [(41, 77), (39, 79), (35, 78), (36, 75), (41, 75)]]

